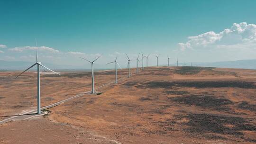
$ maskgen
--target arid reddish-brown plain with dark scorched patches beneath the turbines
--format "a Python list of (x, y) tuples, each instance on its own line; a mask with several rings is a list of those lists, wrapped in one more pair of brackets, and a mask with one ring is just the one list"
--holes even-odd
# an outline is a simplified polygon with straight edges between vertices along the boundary
[[(256, 70), (148, 67), (0, 125), (1, 144), (256, 144)], [(36, 109), (35, 72), (0, 72), (0, 120)], [(114, 81), (95, 72), (95, 87)], [(91, 90), (90, 72), (41, 75), (41, 106)]]

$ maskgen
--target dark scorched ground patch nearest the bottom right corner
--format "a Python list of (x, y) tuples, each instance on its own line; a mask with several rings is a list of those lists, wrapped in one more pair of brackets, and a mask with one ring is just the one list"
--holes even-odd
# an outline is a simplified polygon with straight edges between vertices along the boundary
[(238, 136), (247, 141), (256, 141), (243, 136), (244, 134), (241, 131), (256, 131), (256, 126), (242, 117), (213, 114), (188, 114), (179, 117), (188, 119), (188, 122), (182, 124), (188, 126), (184, 130), (192, 135), (209, 136), (207, 135), (208, 133), (227, 134)]

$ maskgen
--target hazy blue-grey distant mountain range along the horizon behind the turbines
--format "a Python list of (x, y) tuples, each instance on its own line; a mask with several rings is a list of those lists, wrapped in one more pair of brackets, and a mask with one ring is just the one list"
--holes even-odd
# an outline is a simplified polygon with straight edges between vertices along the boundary
[[(0, 70), (24, 70), (28, 68), (30, 65), (34, 63), (32, 62), (9, 62), (0, 60)], [(73, 65), (58, 65), (51, 63), (43, 63), (48, 68), (54, 70), (89, 70), (89, 69), (81, 69), (82, 67), (88, 68), (91, 65), (86, 64), (82, 66), (73, 66)], [(171, 65), (176, 65), (173, 63)], [(184, 63), (179, 63), (180, 66), (184, 66)], [(186, 63), (186, 66), (190, 66), (191, 63)], [(241, 68), (241, 69), (256, 69), (256, 60), (238, 60), (238, 61), (227, 61), (227, 62), (209, 62), (209, 63), (200, 63), (194, 62), (193, 66), (208, 66), (208, 67), (220, 67), (220, 68)], [(99, 70), (102, 69), (113, 69), (111, 66), (107, 67), (106, 65), (97, 65), (95, 64), (95, 68)], [(34, 68), (34, 70), (36, 67)]]

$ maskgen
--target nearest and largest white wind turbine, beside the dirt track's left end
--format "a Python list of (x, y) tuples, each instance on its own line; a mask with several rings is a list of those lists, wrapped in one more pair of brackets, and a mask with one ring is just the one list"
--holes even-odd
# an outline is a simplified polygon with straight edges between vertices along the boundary
[[(37, 45), (37, 44), (36, 44)], [(51, 72), (54, 72), (52, 71), (51, 69), (47, 68), (46, 66), (42, 65), (41, 62), (38, 62), (38, 56), (37, 56), (37, 62), (35, 64), (33, 64), (32, 66), (30, 66), (29, 68), (27, 68), (25, 71), (21, 72), (18, 76), (20, 76), (22, 73), (26, 72), (27, 70), (29, 70), (30, 68), (34, 67), (35, 65), (37, 65), (37, 114), (41, 114), (41, 101), (40, 101), (40, 67), (39, 66), (42, 66), (46, 69), (48, 69), (49, 71)], [(59, 73), (57, 72), (54, 72), (58, 75), (60, 75)], [(18, 76), (16, 78), (18, 78)]]

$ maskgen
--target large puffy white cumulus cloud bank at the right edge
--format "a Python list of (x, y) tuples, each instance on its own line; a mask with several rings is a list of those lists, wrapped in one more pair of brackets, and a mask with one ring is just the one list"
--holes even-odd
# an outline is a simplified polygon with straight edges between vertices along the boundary
[(256, 44), (256, 25), (246, 22), (224, 29), (220, 33), (213, 31), (198, 36), (189, 36), (186, 43), (179, 43), (182, 51), (186, 49), (210, 49), (210, 48), (251, 48)]

